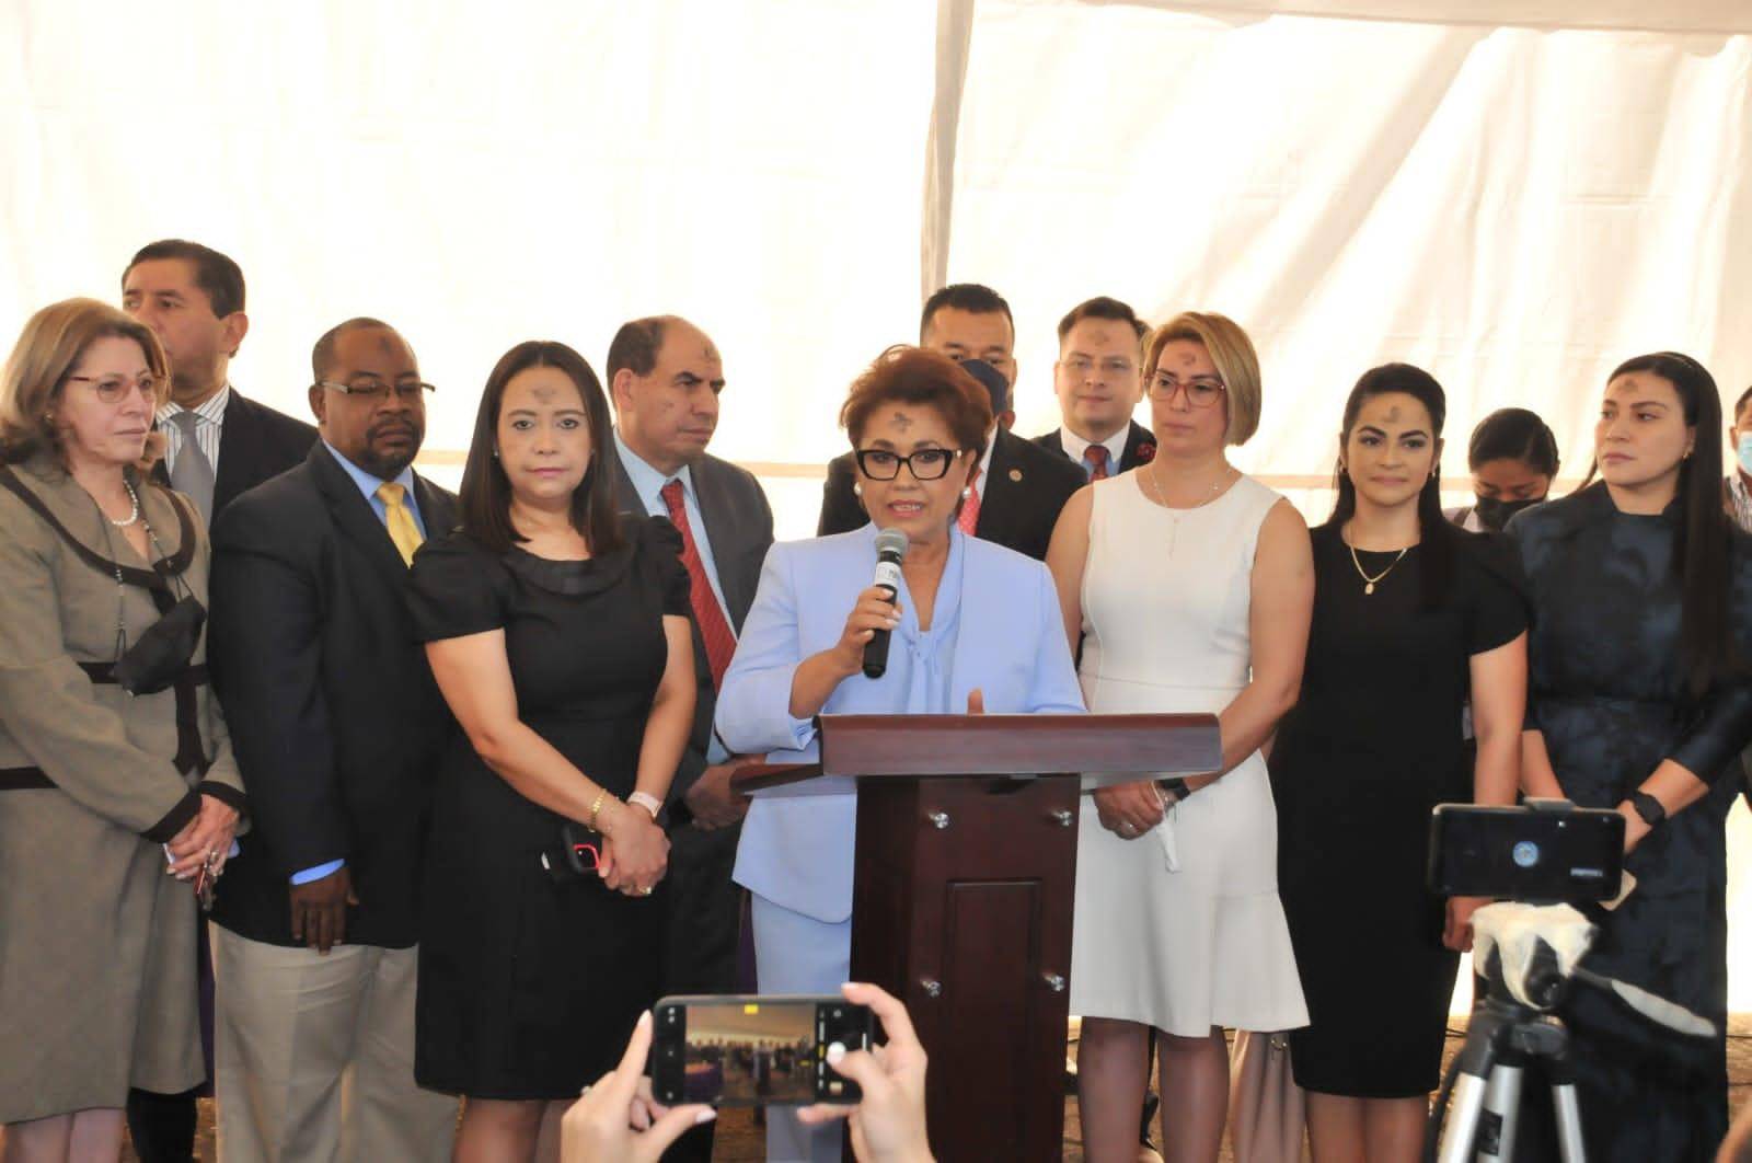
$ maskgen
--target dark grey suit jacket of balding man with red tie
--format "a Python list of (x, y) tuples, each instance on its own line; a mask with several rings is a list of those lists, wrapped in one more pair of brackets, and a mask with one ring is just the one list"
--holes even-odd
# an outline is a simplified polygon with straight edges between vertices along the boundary
[[(668, 511), (646, 513), (639, 503), (632, 478), (620, 462), (620, 450), (608, 447), (608, 455), (615, 462), (615, 489), (620, 494), (620, 511), (645, 517), (668, 517)], [(711, 545), (711, 564), (717, 567), (718, 589), (724, 590), (724, 604), (731, 618), (731, 629), (743, 632), (743, 618), (755, 601), (755, 589), (760, 585), (760, 566), (766, 552), (773, 546), (773, 508), (753, 473), (738, 468), (729, 461), (713, 455), (701, 455), (689, 466), (694, 478), (694, 492), (699, 497), (699, 517), (706, 525), (706, 541)], [(697, 536), (697, 529), (694, 531)], [(692, 618), (690, 618), (692, 620)], [(711, 666), (706, 660), (706, 643), (694, 625), (694, 678), (697, 690), (694, 695), (694, 734), (682, 753), (682, 765), (676, 767), (669, 783), (669, 811), (676, 823), (687, 823), (692, 816), (682, 797), (687, 793), (699, 772), (706, 771), (706, 748), (711, 744), (711, 718), (718, 709), (718, 692), (711, 687)]]

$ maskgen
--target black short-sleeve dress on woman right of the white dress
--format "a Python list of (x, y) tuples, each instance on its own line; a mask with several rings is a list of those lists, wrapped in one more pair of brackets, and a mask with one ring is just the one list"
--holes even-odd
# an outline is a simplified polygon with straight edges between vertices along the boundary
[[(1526, 599), (1507, 543), (1458, 532), (1452, 585), (1424, 608), (1424, 546), (1365, 592), (1337, 524), (1312, 531), (1302, 697), (1277, 729), (1277, 892), (1309, 1028), (1296, 1082), (1328, 1095), (1433, 1091), (1459, 955), (1424, 888), (1430, 809), (1472, 800), (1461, 732), (1472, 655), (1514, 641)], [(1360, 552), (1370, 578), (1395, 553)]]

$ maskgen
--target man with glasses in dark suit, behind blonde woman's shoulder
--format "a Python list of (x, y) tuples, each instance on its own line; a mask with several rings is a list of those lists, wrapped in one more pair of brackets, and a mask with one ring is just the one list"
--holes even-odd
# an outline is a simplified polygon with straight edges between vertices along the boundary
[(1149, 464), (1156, 438), (1132, 419), (1144, 398), (1139, 359), (1149, 326), (1120, 300), (1099, 296), (1077, 303), (1058, 321), (1058, 363), (1053, 391), (1063, 427), (1034, 443), (1106, 480)]

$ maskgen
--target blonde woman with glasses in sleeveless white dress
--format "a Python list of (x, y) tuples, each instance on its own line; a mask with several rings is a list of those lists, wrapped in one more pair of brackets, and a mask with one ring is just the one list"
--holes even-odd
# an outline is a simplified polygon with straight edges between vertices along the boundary
[(1100, 788), (1077, 841), (1070, 1011), (1090, 1163), (1137, 1158), (1162, 1032), (1163, 1156), (1218, 1158), (1223, 1028), (1307, 1025), (1277, 899), (1277, 818), (1260, 755), (1302, 685), (1314, 601), (1307, 524), (1230, 466), (1260, 420), (1260, 364), (1223, 315), (1188, 312), (1144, 349), (1156, 457), (1077, 492), (1048, 566), (1083, 643), (1093, 713), (1209, 711), (1223, 769)]

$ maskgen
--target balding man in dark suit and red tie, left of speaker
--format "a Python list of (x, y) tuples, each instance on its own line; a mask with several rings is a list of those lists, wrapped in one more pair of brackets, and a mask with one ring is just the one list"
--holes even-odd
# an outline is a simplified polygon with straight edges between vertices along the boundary
[[(615, 401), (615, 480), (624, 511), (668, 517), (682, 531), (692, 580), (694, 734), (669, 785), (669, 939), (664, 993), (736, 988), (741, 890), (731, 883), (748, 800), (731, 792), (731, 755), (711, 732), (718, 683), (773, 545), (773, 510), (752, 473), (706, 454), (718, 424), (724, 361), (675, 315), (636, 319), (608, 345)], [(668, 1159), (710, 1159), (711, 1124)]]

